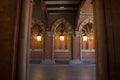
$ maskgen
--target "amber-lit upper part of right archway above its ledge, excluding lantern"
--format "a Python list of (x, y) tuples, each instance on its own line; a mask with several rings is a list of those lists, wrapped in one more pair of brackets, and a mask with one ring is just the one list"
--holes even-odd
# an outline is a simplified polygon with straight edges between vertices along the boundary
[[(81, 32), (80, 41), (82, 49), (94, 50), (95, 38), (94, 38), (94, 23), (93, 18), (87, 18), (81, 22), (79, 31)], [(84, 41), (83, 36), (87, 36), (87, 41)]]

